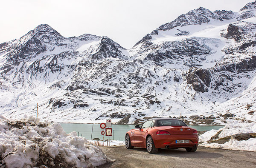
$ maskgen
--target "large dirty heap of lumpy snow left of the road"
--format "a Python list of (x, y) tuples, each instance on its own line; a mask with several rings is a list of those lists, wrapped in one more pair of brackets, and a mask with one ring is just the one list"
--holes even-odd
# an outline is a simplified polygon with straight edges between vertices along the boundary
[(76, 132), (66, 134), (59, 123), (29, 117), (8, 120), (0, 116), (0, 167), (93, 167), (110, 159), (99, 146)]

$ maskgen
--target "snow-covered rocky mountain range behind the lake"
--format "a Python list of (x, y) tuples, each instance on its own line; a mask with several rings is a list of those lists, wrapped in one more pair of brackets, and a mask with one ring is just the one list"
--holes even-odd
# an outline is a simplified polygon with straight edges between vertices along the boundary
[[(256, 121), (256, 2), (200, 7), (131, 49), (108, 37), (63, 37), (39, 25), (0, 44), (0, 114), (70, 122), (147, 117)], [(189, 119), (190, 117), (190, 119)]]

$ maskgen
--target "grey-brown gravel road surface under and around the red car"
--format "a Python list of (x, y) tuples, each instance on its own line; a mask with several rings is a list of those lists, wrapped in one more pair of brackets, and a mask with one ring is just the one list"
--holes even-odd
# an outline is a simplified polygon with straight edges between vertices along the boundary
[(116, 162), (97, 168), (253, 168), (256, 152), (231, 151), (199, 147), (196, 152), (185, 149), (160, 149), (148, 154), (146, 149), (128, 150), (125, 146), (102, 147)]

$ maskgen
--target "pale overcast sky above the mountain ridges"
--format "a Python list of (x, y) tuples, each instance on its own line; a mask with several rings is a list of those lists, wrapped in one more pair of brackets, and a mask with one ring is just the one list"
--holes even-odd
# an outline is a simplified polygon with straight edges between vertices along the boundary
[(239, 11), (249, 2), (253, 0), (0, 0), (0, 43), (46, 23), (64, 37), (108, 36), (131, 48), (192, 9)]

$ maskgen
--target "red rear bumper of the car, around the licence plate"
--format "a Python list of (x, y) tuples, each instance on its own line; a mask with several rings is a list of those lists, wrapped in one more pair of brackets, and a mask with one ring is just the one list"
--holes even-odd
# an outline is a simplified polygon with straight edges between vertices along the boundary
[[(152, 135), (156, 148), (186, 148), (198, 145), (198, 135)], [(189, 143), (176, 143), (176, 140), (189, 140)]]

